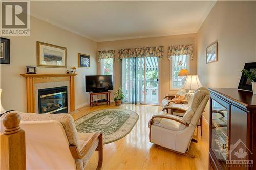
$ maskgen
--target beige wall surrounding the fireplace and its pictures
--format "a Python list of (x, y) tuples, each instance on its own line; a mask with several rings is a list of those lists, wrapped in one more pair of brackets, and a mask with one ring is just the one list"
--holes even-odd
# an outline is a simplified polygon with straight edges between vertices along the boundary
[[(77, 68), (75, 77), (75, 106), (89, 103), (85, 93), (84, 75), (96, 74), (97, 44), (87, 38), (55, 27), (47, 22), (31, 17), (30, 36), (9, 36), (10, 65), (1, 64), (2, 105), (6, 110), (26, 111), (26, 82), (20, 74), (25, 66), (36, 66), (36, 41), (46, 42), (67, 48), (67, 68), (78, 67), (77, 53), (91, 56), (90, 68)], [(37, 67), (37, 73), (66, 73), (66, 68)]]

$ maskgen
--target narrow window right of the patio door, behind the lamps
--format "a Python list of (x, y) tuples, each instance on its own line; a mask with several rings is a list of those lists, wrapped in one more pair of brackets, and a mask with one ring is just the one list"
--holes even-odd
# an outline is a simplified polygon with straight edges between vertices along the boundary
[(180, 89), (185, 81), (186, 76), (178, 76), (181, 69), (189, 70), (189, 56), (188, 55), (179, 55), (179, 56), (172, 56), (171, 59), (171, 89)]

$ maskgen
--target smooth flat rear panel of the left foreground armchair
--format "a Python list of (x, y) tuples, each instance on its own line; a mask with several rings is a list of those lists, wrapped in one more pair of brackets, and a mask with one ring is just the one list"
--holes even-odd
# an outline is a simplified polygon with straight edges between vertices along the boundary
[(22, 121), (20, 127), (25, 131), (27, 169), (76, 169), (60, 122)]

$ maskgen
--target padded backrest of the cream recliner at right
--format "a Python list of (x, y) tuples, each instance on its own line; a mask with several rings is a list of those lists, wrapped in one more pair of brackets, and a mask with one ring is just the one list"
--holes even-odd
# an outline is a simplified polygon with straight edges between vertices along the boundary
[[(198, 120), (200, 119), (204, 108), (209, 100), (209, 90), (205, 87), (200, 87), (200, 89), (196, 90), (194, 95), (191, 96), (191, 102), (189, 104), (189, 108), (182, 117), (182, 119), (187, 124), (197, 125)], [(184, 125), (180, 125), (180, 129), (184, 129)]]

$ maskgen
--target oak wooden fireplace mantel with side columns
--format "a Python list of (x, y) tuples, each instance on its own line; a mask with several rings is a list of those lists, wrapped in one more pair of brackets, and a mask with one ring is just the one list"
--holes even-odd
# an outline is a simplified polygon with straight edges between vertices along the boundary
[(70, 111), (75, 110), (75, 81), (73, 74), (20, 74), (26, 78), (27, 87), (27, 112), (35, 113), (35, 95), (34, 95), (34, 84), (45, 83), (45, 82), (59, 82), (69, 81), (70, 82)]

